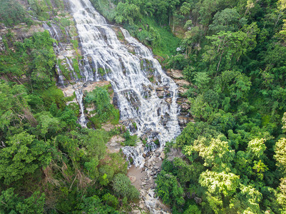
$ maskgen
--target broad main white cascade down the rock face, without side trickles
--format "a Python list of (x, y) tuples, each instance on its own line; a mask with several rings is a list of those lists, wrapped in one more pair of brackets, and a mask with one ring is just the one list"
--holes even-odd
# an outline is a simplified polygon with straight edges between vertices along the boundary
[[(96, 81), (101, 74), (100, 68), (108, 71), (106, 79), (111, 81), (113, 91), (118, 96), (118, 106), (121, 112), (121, 121), (136, 122), (138, 136), (145, 133), (158, 133), (161, 146), (180, 133), (175, 103), (177, 98), (177, 86), (171, 78), (165, 75), (160, 63), (153, 58), (153, 54), (133, 39), (128, 31), (121, 29), (126, 41), (133, 47), (136, 54), (128, 51), (128, 48), (117, 39), (116, 32), (106, 20), (93, 9), (88, 0), (70, 0), (73, 18), (76, 21), (78, 36), (83, 49), (83, 61), (85, 63), (81, 76), (84, 81)], [(147, 59), (153, 65), (156, 83), (149, 81), (145, 71), (141, 69), (141, 60)], [(97, 72), (94, 72), (97, 71)], [(155, 88), (168, 88), (172, 95), (172, 103), (158, 98)], [(146, 89), (147, 88), (147, 89)], [(150, 89), (151, 88), (151, 89)], [(144, 94), (148, 92), (148, 98)], [(168, 116), (168, 121), (163, 126), (162, 118)], [(131, 123), (129, 125), (131, 125)], [(131, 148), (126, 148), (129, 153)], [(133, 157), (137, 158), (137, 157)], [(137, 161), (140, 163), (141, 161)]]

